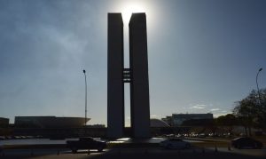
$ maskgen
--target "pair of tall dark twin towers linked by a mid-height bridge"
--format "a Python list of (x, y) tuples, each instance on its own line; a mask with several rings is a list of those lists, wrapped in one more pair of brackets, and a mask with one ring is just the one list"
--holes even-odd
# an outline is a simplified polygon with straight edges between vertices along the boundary
[(150, 137), (150, 101), (145, 13), (129, 21), (129, 68), (124, 68), (121, 13), (108, 13), (107, 135), (124, 135), (124, 83), (130, 83), (130, 120), (133, 138)]

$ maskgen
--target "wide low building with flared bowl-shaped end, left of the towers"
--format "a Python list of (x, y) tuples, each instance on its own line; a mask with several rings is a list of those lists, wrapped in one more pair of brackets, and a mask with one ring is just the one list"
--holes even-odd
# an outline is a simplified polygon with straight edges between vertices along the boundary
[[(87, 118), (86, 123), (90, 120)], [(77, 128), (85, 123), (84, 117), (15, 116), (15, 125), (38, 128)]]

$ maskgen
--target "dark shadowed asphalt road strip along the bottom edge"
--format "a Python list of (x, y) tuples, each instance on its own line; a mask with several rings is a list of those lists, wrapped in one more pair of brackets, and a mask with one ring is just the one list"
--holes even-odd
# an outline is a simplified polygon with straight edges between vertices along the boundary
[(77, 154), (64, 149), (9, 149), (0, 153), (0, 158), (77, 158), (77, 159), (261, 159), (266, 157), (266, 149), (234, 149), (225, 147), (215, 148), (191, 148), (185, 150), (167, 150), (160, 147), (153, 148), (115, 148), (106, 149), (102, 153), (97, 151), (79, 151)]

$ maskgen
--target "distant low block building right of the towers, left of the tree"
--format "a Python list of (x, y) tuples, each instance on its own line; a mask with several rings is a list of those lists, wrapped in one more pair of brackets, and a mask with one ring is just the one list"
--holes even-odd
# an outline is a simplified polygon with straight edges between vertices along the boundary
[(172, 116), (166, 116), (162, 118), (164, 122), (170, 126), (180, 126), (184, 121), (197, 120), (197, 119), (213, 119), (214, 115), (211, 113), (207, 114), (173, 114)]

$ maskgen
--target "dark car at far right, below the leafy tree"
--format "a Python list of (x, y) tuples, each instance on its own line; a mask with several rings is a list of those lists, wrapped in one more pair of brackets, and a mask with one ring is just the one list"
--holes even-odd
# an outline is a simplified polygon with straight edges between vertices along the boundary
[(263, 144), (261, 141), (258, 141), (256, 139), (248, 138), (248, 137), (239, 137), (236, 139), (231, 140), (232, 147), (236, 148), (244, 148), (244, 147), (251, 147), (251, 148), (259, 148), (261, 149), (263, 147)]

